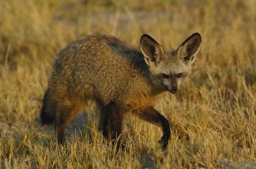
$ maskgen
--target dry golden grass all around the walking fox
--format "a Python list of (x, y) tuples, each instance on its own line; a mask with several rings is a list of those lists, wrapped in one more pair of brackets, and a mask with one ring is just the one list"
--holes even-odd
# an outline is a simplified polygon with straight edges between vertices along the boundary
[[(216, 168), (225, 160), (256, 161), (255, 6), (253, 0), (0, 1), (1, 166)], [(195, 31), (203, 43), (193, 75), (156, 105), (173, 124), (166, 155), (157, 143), (160, 128), (134, 117), (126, 118), (127, 150), (118, 154), (97, 132), (93, 113), (80, 131), (67, 131), (67, 149), (56, 146), (53, 128), (38, 124), (50, 66), (68, 42), (102, 33), (137, 46), (146, 32), (177, 48)]]

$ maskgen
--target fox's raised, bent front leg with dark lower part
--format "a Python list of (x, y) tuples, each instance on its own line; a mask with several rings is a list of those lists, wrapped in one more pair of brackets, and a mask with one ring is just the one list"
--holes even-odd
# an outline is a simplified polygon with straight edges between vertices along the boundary
[(142, 113), (139, 114), (139, 117), (144, 121), (148, 121), (154, 125), (162, 127), (163, 136), (160, 139), (160, 144), (162, 146), (162, 149), (166, 149), (168, 141), (171, 138), (170, 123), (166, 119), (166, 117), (161, 115), (154, 108), (148, 108), (144, 110)]

